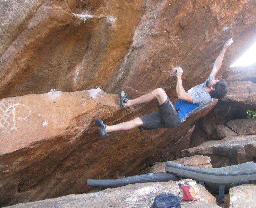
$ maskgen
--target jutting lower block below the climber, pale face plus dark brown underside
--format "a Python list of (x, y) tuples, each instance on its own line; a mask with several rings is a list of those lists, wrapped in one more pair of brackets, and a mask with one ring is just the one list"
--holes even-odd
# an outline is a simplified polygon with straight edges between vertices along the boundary
[(133, 108), (121, 109), (119, 102), (117, 94), (100, 88), (1, 99), (1, 205), (84, 193), (92, 189), (88, 178), (136, 175), (167, 150), (174, 158), (172, 144), (212, 107), (175, 129), (136, 128), (127, 138), (127, 132), (100, 137), (95, 118), (113, 124), (133, 114)]

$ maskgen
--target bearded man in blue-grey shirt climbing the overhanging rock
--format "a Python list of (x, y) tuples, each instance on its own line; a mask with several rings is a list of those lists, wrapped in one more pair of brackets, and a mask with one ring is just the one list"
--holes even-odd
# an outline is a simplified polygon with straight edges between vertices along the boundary
[(122, 122), (116, 125), (106, 125), (101, 119), (97, 118), (95, 124), (99, 129), (100, 136), (108, 135), (113, 131), (130, 130), (138, 127), (140, 130), (150, 130), (156, 128), (173, 128), (178, 127), (185, 122), (189, 115), (198, 112), (213, 102), (213, 98), (221, 99), (228, 92), (227, 84), (223, 79), (215, 79), (217, 72), (220, 70), (222, 60), (227, 48), (233, 43), (232, 38), (223, 46), (221, 53), (216, 58), (210, 76), (205, 83), (197, 85), (187, 92), (182, 86), (182, 68), (178, 67), (176, 92), (178, 101), (174, 104), (170, 101), (164, 89), (157, 88), (150, 93), (144, 94), (135, 99), (129, 99), (125, 92), (120, 89), (120, 107), (128, 108), (142, 103), (148, 103), (155, 98), (157, 99), (159, 111), (137, 117), (133, 120)]

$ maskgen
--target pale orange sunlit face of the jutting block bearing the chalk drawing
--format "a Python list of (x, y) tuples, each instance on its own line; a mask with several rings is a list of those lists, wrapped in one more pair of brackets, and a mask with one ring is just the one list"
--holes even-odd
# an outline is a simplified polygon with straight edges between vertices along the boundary
[[(89, 130), (88, 126), (91, 119), (97, 116), (97, 111), (119, 110), (118, 99), (118, 95), (108, 95), (99, 88), (1, 99), (0, 135), (3, 139), (0, 141), (0, 154), (13, 153), (30, 144), (35, 147), (36, 142), (48, 139), (51, 139), (49, 145), (57, 145), (58, 141), (54, 141), (57, 138), (76, 141)], [(70, 144), (66, 148), (71, 147)]]

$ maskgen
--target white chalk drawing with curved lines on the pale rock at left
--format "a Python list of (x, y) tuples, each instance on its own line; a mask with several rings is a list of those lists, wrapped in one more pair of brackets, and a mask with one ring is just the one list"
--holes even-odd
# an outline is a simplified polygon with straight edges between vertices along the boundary
[[(17, 108), (19, 106), (25, 107), (27, 110), (22, 111), (23, 116), (17, 116)], [(25, 113), (25, 114), (24, 114)], [(9, 103), (3, 99), (0, 101), (0, 127), (2, 132), (8, 130), (17, 129), (16, 120), (24, 120), (27, 122), (28, 116), (31, 114), (31, 110), (24, 104), (16, 103), (9, 106)]]

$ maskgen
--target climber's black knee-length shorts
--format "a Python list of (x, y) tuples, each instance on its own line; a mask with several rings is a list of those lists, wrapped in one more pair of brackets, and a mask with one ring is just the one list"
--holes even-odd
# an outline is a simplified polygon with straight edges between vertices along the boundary
[(143, 126), (138, 127), (140, 130), (173, 128), (181, 124), (179, 114), (173, 107), (169, 97), (167, 101), (157, 107), (159, 111), (139, 117), (143, 121)]

